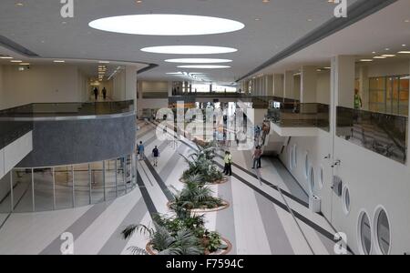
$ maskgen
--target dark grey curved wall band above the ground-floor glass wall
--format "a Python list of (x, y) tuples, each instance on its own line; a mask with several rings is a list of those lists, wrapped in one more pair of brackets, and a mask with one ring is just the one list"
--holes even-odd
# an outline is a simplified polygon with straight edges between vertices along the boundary
[(53, 167), (102, 161), (131, 154), (136, 116), (35, 121), (33, 151), (17, 167)]

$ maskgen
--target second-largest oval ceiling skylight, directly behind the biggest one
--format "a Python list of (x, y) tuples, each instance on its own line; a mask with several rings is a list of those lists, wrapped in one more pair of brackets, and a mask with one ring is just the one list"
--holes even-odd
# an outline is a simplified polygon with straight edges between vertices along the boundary
[(207, 45), (164, 45), (142, 48), (141, 51), (159, 54), (200, 55), (200, 54), (224, 54), (237, 52), (238, 49), (221, 46)]

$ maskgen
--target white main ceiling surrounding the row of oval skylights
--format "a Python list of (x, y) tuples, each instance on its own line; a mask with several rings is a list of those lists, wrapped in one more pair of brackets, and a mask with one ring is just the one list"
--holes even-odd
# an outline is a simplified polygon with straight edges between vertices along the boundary
[[(348, 0), (349, 5), (356, 0)], [(108, 59), (158, 64), (140, 75), (143, 79), (173, 79), (167, 72), (178, 72), (177, 64), (164, 62), (172, 55), (141, 52), (155, 45), (220, 45), (236, 47), (236, 53), (194, 57), (232, 59), (232, 68), (188, 70), (207, 72), (214, 82), (231, 83), (268, 58), (323, 25), (333, 16), (335, 5), (327, 0), (75, 0), (75, 17), (60, 16), (59, 0), (2, 0), (0, 35), (47, 58)], [(147, 36), (98, 31), (88, 26), (97, 18), (132, 14), (208, 15), (240, 21), (241, 31), (220, 35)], [(260, 19), (256, 21), (255, 19)], [(312, 20), (308, 20), (312, 19)], [(63, 24), (67, 22), (67, 24)], [(0, 52), (2, 54), (2, 52)], [(178, 56), (190, 57), (190, 56)]]

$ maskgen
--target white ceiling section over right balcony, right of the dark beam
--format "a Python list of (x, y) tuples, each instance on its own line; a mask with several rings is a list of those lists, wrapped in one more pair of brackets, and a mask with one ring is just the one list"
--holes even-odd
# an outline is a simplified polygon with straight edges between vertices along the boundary
[[(331, 58), (338, 55), (356, 56), (357, 60), (383, 54), (396, 55), (395, 58), (373, 62), (382, 64), (395, 59), (408, 59), (410, 55), (398, 55), (397, 52), (410, 51), (410, 22), (405, 22), (410, 20), (409, 11), (410, 0), (399, 0), (374, 15), (263, 69), (259, 74), (283, 73), (285, 70), (297, 70), (302, 65), (330, 66)], [(386, 48), (389, 50), (386, 51)], [(376, 55), (373, 52), (376, 52)]]

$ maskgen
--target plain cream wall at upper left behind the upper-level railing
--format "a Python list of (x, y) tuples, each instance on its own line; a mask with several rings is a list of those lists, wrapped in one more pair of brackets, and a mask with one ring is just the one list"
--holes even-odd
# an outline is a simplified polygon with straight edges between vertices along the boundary
[(40, 102), (78, 102), (77, 66), (3, 66), (3, 107)]

